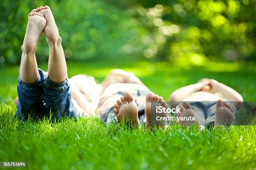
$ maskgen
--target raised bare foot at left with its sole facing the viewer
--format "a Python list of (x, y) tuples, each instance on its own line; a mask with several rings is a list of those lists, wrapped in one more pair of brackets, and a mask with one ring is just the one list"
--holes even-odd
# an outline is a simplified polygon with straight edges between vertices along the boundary
[(28, 26), (24, 37), (22, 50), (31, 53), (36, 52), (36, 44), (40, 39), (46, 26), (46, 20), (43, 14), (31, 12), (28, 14)]

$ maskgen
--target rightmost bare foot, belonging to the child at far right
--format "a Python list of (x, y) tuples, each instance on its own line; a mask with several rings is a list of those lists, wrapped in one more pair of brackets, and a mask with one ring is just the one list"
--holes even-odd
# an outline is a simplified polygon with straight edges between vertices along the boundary
[(214, 127), (218, 125), (230, 126), (234, 119), (235, 112), (232, 107), (230, 107), (228, 103), (223, 102), (223, 100), (218, 100), (216, 104)]

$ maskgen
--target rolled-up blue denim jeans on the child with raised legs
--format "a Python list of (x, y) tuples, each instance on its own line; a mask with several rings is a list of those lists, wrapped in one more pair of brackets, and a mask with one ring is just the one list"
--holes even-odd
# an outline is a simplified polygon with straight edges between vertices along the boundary
[(79, 115), (71, 100), (67, 78), (60, 83), (53, 82), (46, 72), (38, 69), (36, 82), (27, 84), (18, 78), (17, 92), (19, 100), (15, 115), (20, 120), (27, 120), (29, 116), (57, 120), (73, 117), (76, 120)]

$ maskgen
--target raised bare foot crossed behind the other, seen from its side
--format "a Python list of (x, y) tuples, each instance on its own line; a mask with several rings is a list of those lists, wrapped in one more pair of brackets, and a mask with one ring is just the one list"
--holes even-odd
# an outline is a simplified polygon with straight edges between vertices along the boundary
[(47, 42), (56, 42), (59, 40), (59, 30), (55, 23), (54, 16), (51, 13), (51, 9), (49, 6), (45, 5), (44, 7), (37, 7), (33, 9), (31, 12), (39, 12), (44, 15), (46, 19), (46, 27), (44, 28), (44, 33), (47, 38)]

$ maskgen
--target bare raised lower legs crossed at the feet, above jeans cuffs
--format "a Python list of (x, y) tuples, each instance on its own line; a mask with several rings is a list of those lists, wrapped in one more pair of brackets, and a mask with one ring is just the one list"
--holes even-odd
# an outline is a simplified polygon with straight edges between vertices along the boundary
[(49, 45), (49, 78), (54, 82), (63, 82), (67, 77), (67, 64), (54, 17), (48, 6), (41, 6), (28, 14), (28, 26), (21, 46), (20, 79), (25, 83), (35, 82), (38, 78), (35, 54), (43, 31)]

